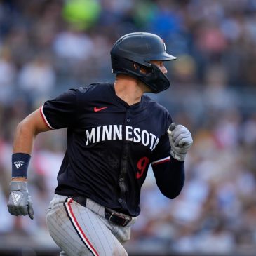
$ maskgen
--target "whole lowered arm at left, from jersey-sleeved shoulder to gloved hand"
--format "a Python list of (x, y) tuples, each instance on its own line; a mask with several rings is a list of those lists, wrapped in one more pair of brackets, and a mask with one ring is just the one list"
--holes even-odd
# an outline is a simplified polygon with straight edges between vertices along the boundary
[(53, 100), (47, 100), (41, 109), (29, 114), (18, 124), (13, 142), (12, 180), (8, 200), (8, 210), (12, 215), (28, 214), (33, 219), (32, 201), (27, 190), (27, 168), (34, 139), (41, 132), (74, 125), (78, 109), (77, 91), (70, 89)]

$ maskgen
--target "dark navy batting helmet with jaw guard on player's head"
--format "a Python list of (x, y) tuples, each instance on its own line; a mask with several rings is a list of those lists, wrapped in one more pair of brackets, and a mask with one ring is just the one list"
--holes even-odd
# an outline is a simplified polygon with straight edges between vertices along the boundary
[[(151, 60), (175, 60), (166, 53), (166, 45), (156, 34), (136, 32), (122, 36), (110, 52), (113, 74), (128, 74), (140, 79), (153, 93), (168, 89), (170, 81)], [(146, 74), (135, 69), (134, 63), (144, 67)]]

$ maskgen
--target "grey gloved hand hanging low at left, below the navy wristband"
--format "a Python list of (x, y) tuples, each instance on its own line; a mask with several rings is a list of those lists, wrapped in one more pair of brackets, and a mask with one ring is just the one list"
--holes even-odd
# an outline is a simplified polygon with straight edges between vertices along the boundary
[(8, 199), (8, 211), (11, 215), (29, 215), (34, 219), (32, 200), (27, 190), (27, 182), (12, 181), (10, 183), (10, 194)]

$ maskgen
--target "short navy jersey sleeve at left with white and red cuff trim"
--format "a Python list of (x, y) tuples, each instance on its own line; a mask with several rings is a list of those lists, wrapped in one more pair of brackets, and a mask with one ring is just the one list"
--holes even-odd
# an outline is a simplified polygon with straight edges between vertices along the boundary
[(49, 128), (60, 129), (74, 126), (77, 109), (76, 94), (76, 90), (70, 89), (43, 104), (41, 116)]

